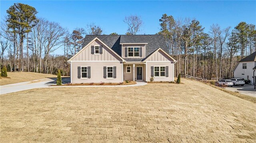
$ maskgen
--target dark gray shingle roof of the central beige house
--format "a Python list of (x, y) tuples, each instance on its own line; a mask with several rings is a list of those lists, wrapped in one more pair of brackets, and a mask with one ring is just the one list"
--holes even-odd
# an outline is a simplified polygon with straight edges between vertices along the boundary
[[(92, 41), (95, 37), (98, 37), (120, 56), (122, 53), (120, 43), (148, 43), (146, 44), (146, 57), (158, 48), (161, 48), (166, 53), (169, 53), (164, 41), (164, 36), (162, 35), (86, 35), (84, 38), (83, 47), (90, 43), (90, 41)], [(142, 61), (142, 59), (126, 59), (126, 61)]]

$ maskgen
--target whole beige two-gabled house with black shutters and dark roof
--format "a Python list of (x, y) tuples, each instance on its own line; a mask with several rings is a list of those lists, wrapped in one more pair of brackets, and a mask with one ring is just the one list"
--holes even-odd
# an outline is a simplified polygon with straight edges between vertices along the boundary
[(68, 60), (71, 83), (174, 81), (174, 60), (162, 35), (86, 35)]

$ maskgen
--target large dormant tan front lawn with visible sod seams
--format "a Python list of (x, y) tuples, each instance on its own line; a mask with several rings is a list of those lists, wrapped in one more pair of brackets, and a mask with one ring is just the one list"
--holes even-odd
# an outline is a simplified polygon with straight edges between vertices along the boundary
[(256, 104), (201, 82), (0, 95), (2, 142), (255, 142)]

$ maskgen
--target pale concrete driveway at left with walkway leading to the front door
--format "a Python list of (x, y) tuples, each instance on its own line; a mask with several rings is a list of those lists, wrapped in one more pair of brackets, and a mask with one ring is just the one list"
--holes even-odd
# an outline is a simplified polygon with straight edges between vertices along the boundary
[[(27, 82), (20, 82), (20, 83), (14, 83), (14, 84), (7, 84), (0, 86), (0, 94), (7, 94), (7, 93), (12, 93), (12, 92), (18, 92), (22, 90), (29, 90), (29, 89), (34, 89), (34, 88), (66, 88), (66, 87), (130, 87), (130, 86), (143, 86), (146, 85), (146, 82), (140, 82), (136, 81), (136, 84), (132, 85), (106, 85), (106, 86), (51, 86), (51, 85), (56, 85), (54, 83), (56, 78), (43, 78), (40, 80), (32, 80), (32, 81), (27, 81)], [(64, 82), (68, 83), (67, 81), (69, 78), (64, 78)]]

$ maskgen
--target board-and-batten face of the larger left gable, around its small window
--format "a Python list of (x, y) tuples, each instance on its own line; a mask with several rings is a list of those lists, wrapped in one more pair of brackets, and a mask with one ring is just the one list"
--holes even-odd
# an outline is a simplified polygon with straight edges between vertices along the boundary
[[(94, 45), (102, 46), (102, 54), (91, 53), (91, 46)], [(123, 59), (106, 44), (104, 44), (98, 38), (95, 38), (68, 60), (68, 62), (70, 61), (123, 61)]]

